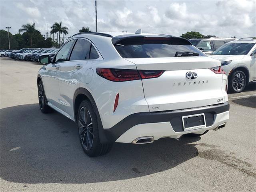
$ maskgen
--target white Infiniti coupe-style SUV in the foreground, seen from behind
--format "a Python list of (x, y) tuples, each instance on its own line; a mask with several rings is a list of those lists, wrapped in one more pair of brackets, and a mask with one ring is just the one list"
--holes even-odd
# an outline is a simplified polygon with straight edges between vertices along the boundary
[(40, 62), (40, 110), (75, 121), (88, 156), (106, 154), (113, 142), (199, 136), (229, 118), (221, 62), (184, 38), (84, 32)]

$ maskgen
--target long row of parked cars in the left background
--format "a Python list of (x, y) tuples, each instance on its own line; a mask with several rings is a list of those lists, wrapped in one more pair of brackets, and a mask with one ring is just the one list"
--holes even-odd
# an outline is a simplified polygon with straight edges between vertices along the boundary
[(0, 50), (1, 57), (9, 57), (16, 60), (28, 60), (38, 62), (39, 55), (48, 54), (53, 58), (58, 49), (55, 48), (23, 48), (20, 50)]

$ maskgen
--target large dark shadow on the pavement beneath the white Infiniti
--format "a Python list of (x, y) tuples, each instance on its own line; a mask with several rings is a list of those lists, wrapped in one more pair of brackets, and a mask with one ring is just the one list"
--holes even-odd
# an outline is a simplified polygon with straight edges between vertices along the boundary
[(200, 137), (164, 138), (152, 144), (115, 143), (90, 158), (80, 147), (76, 124), (38, 104), (0, 110), (0, 177), (18, 183), (93, 183), (150, 176), (198, 155)]

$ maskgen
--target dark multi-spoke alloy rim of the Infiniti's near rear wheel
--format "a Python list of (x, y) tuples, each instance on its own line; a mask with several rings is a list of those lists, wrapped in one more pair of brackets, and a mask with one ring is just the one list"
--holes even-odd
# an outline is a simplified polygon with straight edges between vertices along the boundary
[(78, 128), (80, 141), (86, 150), (92, 148), (93, 143), (93, 124), (92, 117), (89, 110), (86, 107), (82, 107), (78, 116)]

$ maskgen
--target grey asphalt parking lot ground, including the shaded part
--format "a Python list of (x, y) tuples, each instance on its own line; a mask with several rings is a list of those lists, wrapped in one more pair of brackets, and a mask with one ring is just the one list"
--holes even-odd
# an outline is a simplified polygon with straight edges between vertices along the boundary
[(36, 62), (0, 58), (0, 190), (256, 191), (256, 85), (229, 94), (226, 128), (199, 138), (114, 144), (90, 158), (76, 125), (38, 106)]

